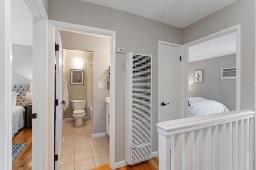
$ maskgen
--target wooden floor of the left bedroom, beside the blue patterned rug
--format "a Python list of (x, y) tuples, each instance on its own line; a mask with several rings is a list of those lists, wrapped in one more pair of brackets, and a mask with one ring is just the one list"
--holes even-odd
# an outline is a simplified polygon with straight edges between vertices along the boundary
[(20, 155), (12, 164), (12, 170), (31, 170), (32, 169), (32, 128), (20, 129), (12, 139), (12, 145), (27, 143)]

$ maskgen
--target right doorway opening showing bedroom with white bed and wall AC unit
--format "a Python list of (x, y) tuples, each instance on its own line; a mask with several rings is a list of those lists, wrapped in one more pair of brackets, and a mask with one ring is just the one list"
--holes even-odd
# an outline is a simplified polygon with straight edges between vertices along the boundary
[(236, 110), (236, 32), (188, 47), (187, 117)]

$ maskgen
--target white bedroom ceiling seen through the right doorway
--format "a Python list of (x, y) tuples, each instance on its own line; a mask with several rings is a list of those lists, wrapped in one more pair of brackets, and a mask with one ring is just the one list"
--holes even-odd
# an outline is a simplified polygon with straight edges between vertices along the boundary
[(188, 48), (189, 62), (236, 53), (236, 32)]

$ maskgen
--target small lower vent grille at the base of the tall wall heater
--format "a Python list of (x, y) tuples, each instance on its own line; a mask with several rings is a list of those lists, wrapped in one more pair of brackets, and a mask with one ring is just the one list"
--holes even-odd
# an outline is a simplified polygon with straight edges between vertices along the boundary
[(150, 145), (141, 148), (132, 148), (132, 164), (150, 159), (151, 147)]

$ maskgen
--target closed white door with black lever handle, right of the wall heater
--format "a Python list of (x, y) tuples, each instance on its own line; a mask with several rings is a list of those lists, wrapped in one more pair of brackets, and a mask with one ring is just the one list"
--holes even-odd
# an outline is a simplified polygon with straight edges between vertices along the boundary
[(158, 46), (158, 122), (180, 118), (180, 47)]

